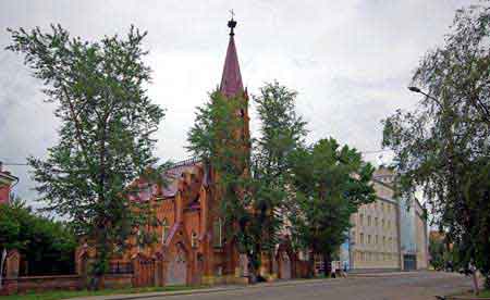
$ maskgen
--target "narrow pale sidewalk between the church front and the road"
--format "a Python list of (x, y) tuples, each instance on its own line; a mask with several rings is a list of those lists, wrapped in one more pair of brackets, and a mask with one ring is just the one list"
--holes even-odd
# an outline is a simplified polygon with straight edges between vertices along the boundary
[(299, 284), (307, 283), (320, 283), (324, 280), (340, 280), (342, 278), (319, 278), (319, 279), (292, 279), (284, 282), (273, 282), (273, 283), (260, 283), (255, 285), (245, 286), (218, 286), (212, 288), (196, 288), (187, 290), (175, 290), (175, 291), (155, 291), (155, 292), (142, 292), (142, 293), (127, 293), (127, 295), (108, 295), (108, 296), (93, 296), (83, 298), (70, 298), (69, 300), (128, 300), (128, 299), (140, 299), (140, 298), (156, 298), (164, 296), (181, 296), (181, 295), (201, 295), (201, 293), (212, 293), (222, 292), (231, 290), (242, 290), (249, 288), (268, 288), (268, 287), (279, 287), (279, 286), (295, 286)]

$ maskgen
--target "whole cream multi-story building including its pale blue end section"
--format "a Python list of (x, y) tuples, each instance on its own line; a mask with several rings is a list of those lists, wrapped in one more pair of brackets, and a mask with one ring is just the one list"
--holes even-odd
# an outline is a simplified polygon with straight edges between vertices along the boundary
[(377, 200), (351, 216), (353, 227), (340, 257), (353, 272), (428, 266), (425, 209), (415, 197), (396, 197), (393, 183), (391, 170), (378, 168), (372, 176)]

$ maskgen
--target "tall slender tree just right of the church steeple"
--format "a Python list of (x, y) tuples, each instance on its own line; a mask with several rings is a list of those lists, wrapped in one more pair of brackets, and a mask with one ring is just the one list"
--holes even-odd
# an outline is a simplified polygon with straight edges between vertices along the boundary
[[(253, 222), (256, 259), (273, 253), (280, 242), (291, 182), (291, 153), (304, 143), (306, 122), (296, 114), (296, 91), (278, 82), (266, 84), (254, 96), (260, 122), (252, 157)], [(257, 266), (260, 261), (257, 262)], [(257, 268), (256, 268), (257, 270)]]

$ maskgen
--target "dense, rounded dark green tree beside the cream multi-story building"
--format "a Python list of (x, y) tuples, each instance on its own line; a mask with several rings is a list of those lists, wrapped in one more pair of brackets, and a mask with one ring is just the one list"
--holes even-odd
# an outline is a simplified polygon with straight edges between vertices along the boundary
[(376, 199), (370, 183), (375, 170), (355, 148), (341, 148), (333, 138), (297, 150), (293, 161), (293, 237), (302, 248), (322, 255), (329, 275), (332, 255), (348, 237), (351, 215)]

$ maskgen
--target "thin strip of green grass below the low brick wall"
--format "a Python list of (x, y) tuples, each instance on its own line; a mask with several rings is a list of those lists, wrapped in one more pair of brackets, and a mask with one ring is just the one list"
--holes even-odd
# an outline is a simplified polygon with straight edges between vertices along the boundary
[(53, 290), (45, 292), (28, 292), (25, 295), (0, 296), (0, 300), (59, 300), (77, 297), (118, 295), (118, 293), (138, 293), (152, 291), (174, 291), (207, 288), (208, 286), (168, 286), (168, 287), (146, 287), (146, 288), (124, 288), (124, 289), (102, 289), (102, 290)]

